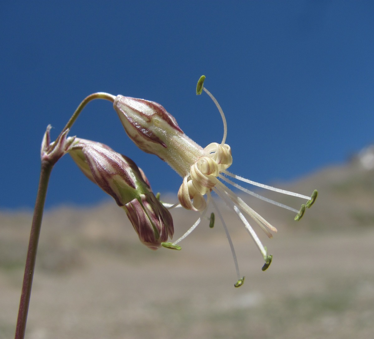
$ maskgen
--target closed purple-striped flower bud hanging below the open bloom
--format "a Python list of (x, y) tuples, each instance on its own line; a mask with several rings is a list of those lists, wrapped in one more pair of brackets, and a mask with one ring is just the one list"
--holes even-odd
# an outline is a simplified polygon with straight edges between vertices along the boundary
[(152, 250), (172, 238), (170, 212), (154, 196), (144, 172), (134, 161), (107, 145), (75, 138), (69, 154), (82, 172), (122, 207), (140, 241)]

